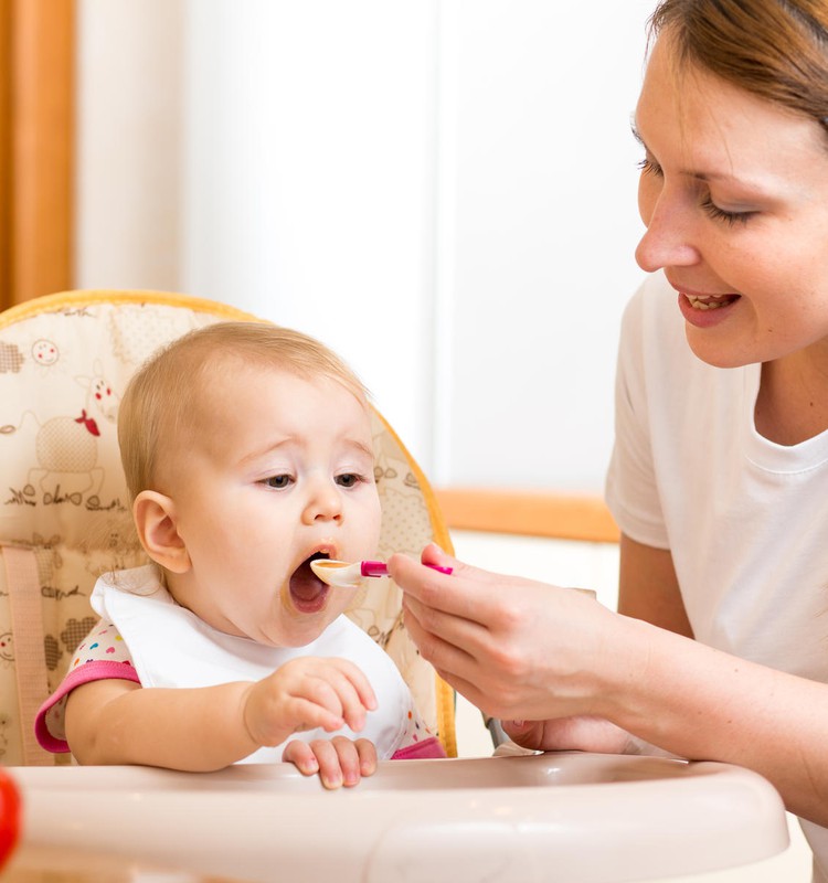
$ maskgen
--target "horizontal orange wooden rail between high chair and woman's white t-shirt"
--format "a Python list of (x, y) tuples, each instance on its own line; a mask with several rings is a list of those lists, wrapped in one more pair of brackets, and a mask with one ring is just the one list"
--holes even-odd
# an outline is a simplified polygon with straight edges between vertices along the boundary
[(452, 530), (593, 543), (617, 543), (620, 535), (596, 496), (497, 488), (442, 488), (435, 493)]

